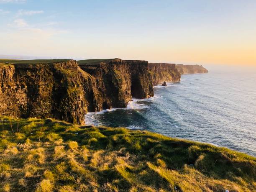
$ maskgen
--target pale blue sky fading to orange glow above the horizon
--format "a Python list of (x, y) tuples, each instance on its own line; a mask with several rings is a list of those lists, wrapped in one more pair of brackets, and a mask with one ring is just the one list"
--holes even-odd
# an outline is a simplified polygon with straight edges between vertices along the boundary
[(256, 0), (0, 0), (0, 54), (256, 65)]

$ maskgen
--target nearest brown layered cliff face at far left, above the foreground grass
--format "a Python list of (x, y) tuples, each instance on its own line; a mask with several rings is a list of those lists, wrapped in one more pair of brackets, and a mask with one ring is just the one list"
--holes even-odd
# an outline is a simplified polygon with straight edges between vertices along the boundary
[(0, 67), (1, 115), (83, 124), (84, 114), (100, 105), (95, 78), (76, 61)]

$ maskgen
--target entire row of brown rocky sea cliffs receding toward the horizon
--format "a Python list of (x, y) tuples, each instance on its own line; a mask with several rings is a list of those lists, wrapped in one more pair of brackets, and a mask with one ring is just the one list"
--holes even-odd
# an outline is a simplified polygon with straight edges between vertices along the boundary
[(132, 97), (154, 96), (154, 85), (205, 72), (200, 65), (122, 59), (0, 60), (0, 115), (83, 124), (88, 112), (125, 108)]

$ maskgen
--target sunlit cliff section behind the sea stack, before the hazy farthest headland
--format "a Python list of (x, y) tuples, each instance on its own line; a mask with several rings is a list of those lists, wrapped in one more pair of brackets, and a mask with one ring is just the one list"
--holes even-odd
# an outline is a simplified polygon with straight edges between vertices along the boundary
[(180, 73), (175, 64), (148, 63), (153, 85), (162, 84), (164, 81), (179, 81)]

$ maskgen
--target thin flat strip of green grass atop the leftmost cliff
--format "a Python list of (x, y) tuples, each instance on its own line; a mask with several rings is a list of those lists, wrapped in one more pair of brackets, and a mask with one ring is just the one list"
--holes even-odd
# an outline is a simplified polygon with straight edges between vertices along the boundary
[(39, 63), (57, 63), (69, 61), (70, 59), (34, 59), (34, 60), (18, 60), (18, 59), (0, 59), (1, 64), (39, 64)]

